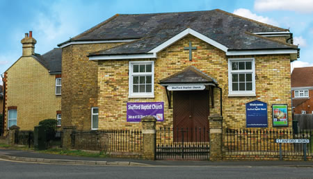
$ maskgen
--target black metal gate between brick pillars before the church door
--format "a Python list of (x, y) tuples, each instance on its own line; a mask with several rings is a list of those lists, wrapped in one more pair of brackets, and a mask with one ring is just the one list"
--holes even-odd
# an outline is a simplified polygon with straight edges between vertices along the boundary
[(207, 128), (159, 128), (156, 137), (157, 160), (209, 160)]

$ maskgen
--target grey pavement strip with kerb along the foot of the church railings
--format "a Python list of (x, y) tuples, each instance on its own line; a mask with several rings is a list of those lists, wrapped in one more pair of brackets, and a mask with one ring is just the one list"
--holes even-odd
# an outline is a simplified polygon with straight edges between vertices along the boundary
[(39, 153), (37, 151), (18, 151), (0, 148), (0, 160), (19, 162), (38, 162), (50, 164), (88, 164), (106, 166), (208, 166), (208, 167), (311, 167), (312, 161), (187, 161), (187, 160), (137, 160), (120, 157), (77, 157)]

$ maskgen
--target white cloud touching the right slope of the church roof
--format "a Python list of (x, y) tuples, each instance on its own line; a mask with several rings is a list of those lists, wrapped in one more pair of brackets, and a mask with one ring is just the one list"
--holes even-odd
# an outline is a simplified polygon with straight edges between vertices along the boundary
[(240, 15), (240, 16), (243, 16), (243, 17), (247, 17), (249, 19), (253, 19), (253, 20), (256, 20), (258, 22), (263, 22), (265, 24), (271, 24), (273, 26), (278, 26), (278, 22), (275, 22), (273, 19), (270, 19), (268, 17), (263, 17), (261, 15), (254, 14), (250, 10), (245, 9), (245, 8), (236, 9), (236, 10), (234, 10), (233, 13), (235, 15)]

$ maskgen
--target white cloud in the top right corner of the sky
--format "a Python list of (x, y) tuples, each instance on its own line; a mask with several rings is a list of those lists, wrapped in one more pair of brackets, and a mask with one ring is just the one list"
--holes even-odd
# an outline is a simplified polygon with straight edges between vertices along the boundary
[(255, 10), (289, 10), (302, 13), (313, 12), (313, 0), (256, 0)]

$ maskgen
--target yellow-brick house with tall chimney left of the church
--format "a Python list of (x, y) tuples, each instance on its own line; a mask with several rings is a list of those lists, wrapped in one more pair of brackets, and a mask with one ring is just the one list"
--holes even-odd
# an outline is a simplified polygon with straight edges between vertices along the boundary
[(4, 134), (10, 126), (33, 130), (43, 119), (59, 119), (61, 125), (61, 54), (53, 49), (35, 53), (32, 32), (21, 40), (22, 56), (4, 72)]

